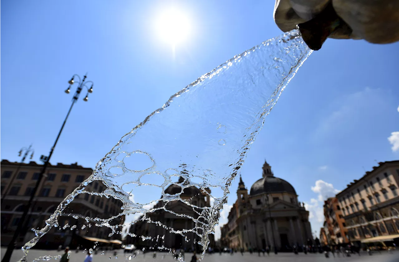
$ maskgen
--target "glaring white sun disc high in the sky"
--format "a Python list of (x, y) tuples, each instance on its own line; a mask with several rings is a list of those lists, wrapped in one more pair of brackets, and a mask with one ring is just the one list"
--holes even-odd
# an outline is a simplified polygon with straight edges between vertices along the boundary
[(156, 30), (163, 41), (174, 47), (188, 39), (191, 31), (190, 19), (175, 8), (162, 10), (156, 20)]

